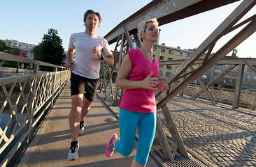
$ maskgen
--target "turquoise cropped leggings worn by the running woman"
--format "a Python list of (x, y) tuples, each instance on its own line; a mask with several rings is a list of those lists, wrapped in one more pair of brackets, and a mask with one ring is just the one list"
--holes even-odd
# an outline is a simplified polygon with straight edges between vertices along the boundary
[(150, 148), (155, 138), (156, 112), (138, 113), (120, 109), (120, 140), (115, 143), (115, 150), (127, 157), (134, 149), (136, 129), (138, 127), (138, 144), (135, 160), (145, 165)]

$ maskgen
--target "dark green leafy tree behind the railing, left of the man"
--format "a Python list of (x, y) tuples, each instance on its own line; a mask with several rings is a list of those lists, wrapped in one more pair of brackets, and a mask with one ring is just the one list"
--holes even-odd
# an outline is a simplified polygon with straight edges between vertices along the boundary
[[(34, 59), (55, 65), (64, 65), (64, 48), (62, 39), (57, 35), (55, 29), (48, 29), (48, 34), (43, 34), (43, 40), (32, 49)], [(41, 70), (50, 70), (43, 67)]]

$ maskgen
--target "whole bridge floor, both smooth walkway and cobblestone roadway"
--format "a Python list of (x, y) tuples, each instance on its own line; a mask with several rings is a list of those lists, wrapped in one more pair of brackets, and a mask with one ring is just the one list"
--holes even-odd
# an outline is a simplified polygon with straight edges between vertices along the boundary
[[(104, 98), (104, 94), (98, 95)], [(256, 112), (232, 111), (232, 106), (199, 101), (174, 97), (167, 104), (187, 151), (206, 166), (256, 166)], [(111, 106), (111, 100), (104, 102), (118, 114), (118, 107)], [(79, 137), (79, 158), (68, 161), (70, 106), (67, 84), (19, 166), (130, 166), (136, 150), (129, 157), (115, 152), (109, 159), (104, 154), (110, 134), (118, 132), (118, 121), (99, 97), (92, 103), (85, 133)], [(161, 112), (158, 113), (161, 118)], [(148, 166), (157, 164), (149, 159)]]

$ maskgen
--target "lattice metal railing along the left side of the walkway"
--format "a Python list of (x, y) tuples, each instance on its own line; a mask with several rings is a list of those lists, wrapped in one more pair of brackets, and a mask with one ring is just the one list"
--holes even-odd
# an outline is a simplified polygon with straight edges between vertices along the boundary
[[(6, 166), (22, 143), (29, 143), (40, 119), (70, 77), (58, 65), (22, 58), (0, 51), (0, 60), (31, 63), (34, 74), (0, 78), (0, 166)], [(53, 72), (38, 72), (38, 66), (53, 67)]]

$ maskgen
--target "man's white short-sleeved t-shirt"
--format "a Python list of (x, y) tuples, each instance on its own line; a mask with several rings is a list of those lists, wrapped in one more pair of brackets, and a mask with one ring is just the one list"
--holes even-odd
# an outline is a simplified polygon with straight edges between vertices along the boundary
[(87, 35), (85, 32), (71, 34), (69, 48), (76, 49), (76, 61), (72, 70), (74, 74), (90, 79), (99, 79), (101, 61), (97, 54), (92, 52), (93, 47), (98, 47), (101, 54), (112, 54), (108, 42), (98, 35)]

